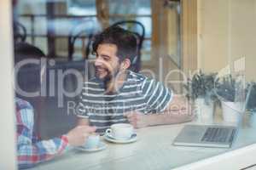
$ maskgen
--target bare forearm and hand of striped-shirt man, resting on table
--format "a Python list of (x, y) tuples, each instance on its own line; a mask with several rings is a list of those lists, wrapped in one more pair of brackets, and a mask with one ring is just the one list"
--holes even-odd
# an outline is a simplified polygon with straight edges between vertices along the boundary
[(127, 116), (128, 121), (137, 128), (189, 122), (194, 117), (188, 100), (181, 96), (174, 96), (172, 102), (163, 112), (143, 115), (137, 111), (132, 111), (125, 114), (125, 116)]

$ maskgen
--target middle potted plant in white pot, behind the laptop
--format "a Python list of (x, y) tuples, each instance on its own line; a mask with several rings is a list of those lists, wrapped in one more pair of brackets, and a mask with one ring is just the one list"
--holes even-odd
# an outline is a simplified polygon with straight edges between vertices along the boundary
[[(219, 79), (216, 88), (221, 101), (224, 122), (238, 123), (244, 111), (244, 92), (241, 81), (236, 81), (231, 75)], [(244, 94), (244, 93), (243, 93)]]

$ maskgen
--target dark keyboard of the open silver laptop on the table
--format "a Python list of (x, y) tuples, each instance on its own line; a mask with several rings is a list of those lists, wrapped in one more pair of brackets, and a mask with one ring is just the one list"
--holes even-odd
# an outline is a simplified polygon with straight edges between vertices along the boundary
[[(202, 142), (224, 143), (227, 141), (230, 129), (221, 127), (207, 127), (207, 132), (202, 137)], [(235, 133), (233, 130), (232, 133)], [(233, 135), (231, 135), (233, 138)]]

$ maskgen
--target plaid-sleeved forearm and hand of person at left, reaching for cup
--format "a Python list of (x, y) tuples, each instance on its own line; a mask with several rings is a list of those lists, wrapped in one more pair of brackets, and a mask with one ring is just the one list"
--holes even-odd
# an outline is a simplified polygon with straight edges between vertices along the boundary
[(61, 138), (32, 143), (32, 139), (25, 135), (29, 131), (23, 129), (24, 134), (18, 136), (19, 167), (27, 168), (42, 161), (49, 161), (67, 150), (68, 145), (79, 146), (84, 144), (90, 133), (95, 131), (95, 127), (79, 126), (73, 128), (66, 135), (62, 135)]

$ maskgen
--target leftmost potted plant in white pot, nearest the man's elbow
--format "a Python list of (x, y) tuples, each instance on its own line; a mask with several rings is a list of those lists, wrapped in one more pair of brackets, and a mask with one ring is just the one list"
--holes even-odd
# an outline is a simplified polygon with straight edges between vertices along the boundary
[(199, 71), (184, 85), (187, 97), (194, 101), (194, 111), (199, 123), (213, 121), (214, 103), (217, 99), (214, 93), (216, 76), (217, 73), (205, 74)]

